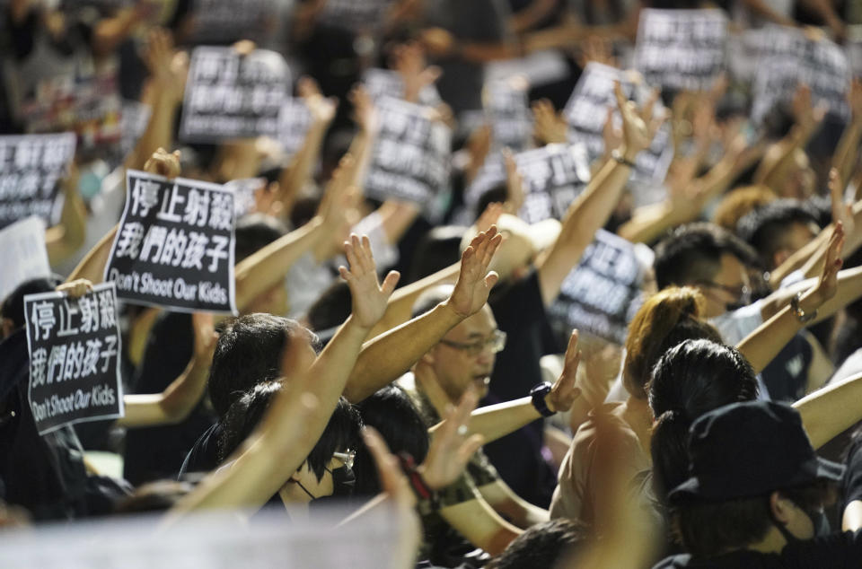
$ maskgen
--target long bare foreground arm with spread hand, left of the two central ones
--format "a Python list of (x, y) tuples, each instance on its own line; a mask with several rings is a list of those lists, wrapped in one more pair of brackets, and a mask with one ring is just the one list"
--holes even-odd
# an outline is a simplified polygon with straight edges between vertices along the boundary
[[(360, 240), (351, 236), (345, 253), (350, 269), (341, 267), (340, 272), (353, 299), (350, 317), (308, 371), (286, 382), (258, 427), (227, 460), (230, 468), (207, 476), (169, 512), (168, 524), (202, 508), (257, 509), (312, 451), (344, 390), (365, 336), (383, 315), (398, 281), (398, 274), (393, 272), (383, 285), (378, 284), (367, 237)], [(286, 357), (283, 372), (290, 366)]]

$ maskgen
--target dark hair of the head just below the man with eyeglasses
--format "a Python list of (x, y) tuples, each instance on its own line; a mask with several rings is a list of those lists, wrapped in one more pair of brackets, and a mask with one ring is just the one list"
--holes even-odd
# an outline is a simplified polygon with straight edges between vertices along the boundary
[[(425, 460), (429, 445), (428, 429), (404, 391), (390, 385), (365, 398), (356, 407), (363, 424), (377, 429), (390, 451), (395, 454), (406, 452), (417, 464)], [(356, 449), (353, 471), (356, 474), (354, 495), (380, 493), (374, 457), (363, 443)]]

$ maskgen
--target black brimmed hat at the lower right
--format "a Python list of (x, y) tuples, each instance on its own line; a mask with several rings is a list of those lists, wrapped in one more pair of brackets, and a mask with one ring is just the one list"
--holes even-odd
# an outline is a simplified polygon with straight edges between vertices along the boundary
[(815, 480), (840, 482), (844, 466), (823, 460), (793, 407), (749, 401), (700, 416), (689, 433), (690, 477), (671, 503), (723, 502), (767, 495)]

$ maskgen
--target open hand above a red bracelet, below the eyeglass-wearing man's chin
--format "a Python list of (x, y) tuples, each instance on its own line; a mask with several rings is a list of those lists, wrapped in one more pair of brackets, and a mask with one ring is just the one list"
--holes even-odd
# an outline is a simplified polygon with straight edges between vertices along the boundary
[(461, 476), (473, 453), (479, 450), (484, 437), (474, 434), (465, 440), (467, 422), (479, 402), (472, 387), (461, 398), (458, 407), (451, 408), (444, 422), (431, 437), (425, 460), (417, 468), (422, 479), (433, 490), (449, 486)]

